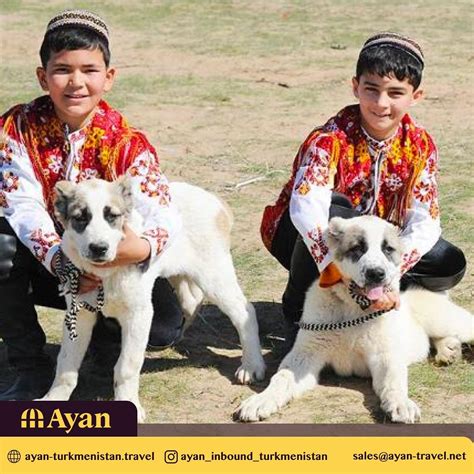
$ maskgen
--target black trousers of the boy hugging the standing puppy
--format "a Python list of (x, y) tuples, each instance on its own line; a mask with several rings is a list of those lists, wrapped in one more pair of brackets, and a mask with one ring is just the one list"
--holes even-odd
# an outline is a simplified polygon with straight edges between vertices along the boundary
[[(8, 221), (0, 217), (0, 338), (7, 347), (10, 365), (18, 371), (53, 365), (44, 353), (46, 336), (38, 322), (35, 305), (66, 309), (58, 283), (18, 240)], [(152, 296), (155, 314), (163, 314), (162, 308), (169, 305), (166, 300), (170, 293), (176, 298), (168, 281), (158, 278)], [(93, 339), (111, 332), (116, 334), (113, 329), (104, 323), (104, 318), (99, 318)], [(114, 334), (112, 337), (116, 339)]]

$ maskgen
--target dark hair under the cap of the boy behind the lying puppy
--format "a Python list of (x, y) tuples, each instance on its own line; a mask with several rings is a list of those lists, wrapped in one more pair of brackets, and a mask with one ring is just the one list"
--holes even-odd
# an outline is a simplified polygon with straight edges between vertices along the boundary
[(356, 79), (365, 73), (381, 77), (394, 74), (399, 81), (408, 79), (413, 89), (421, 83), (423, 65), (412, 55), (392, 46), (373, 46), (361, 51), (356, 67)]

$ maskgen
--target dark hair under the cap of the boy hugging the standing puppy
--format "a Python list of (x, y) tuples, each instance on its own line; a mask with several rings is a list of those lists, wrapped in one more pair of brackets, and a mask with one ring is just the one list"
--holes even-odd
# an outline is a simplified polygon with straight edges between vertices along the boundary
[(100, 33), (80, 26), (64, 26), (45, 34), (40, 48), (41, 64), (46, 69), (52, 53), (75, 51), (78, 49), (94, 50), (99, 48), (104, 56), (106, 67), (110, 64), (110, 50), (107, 39)]

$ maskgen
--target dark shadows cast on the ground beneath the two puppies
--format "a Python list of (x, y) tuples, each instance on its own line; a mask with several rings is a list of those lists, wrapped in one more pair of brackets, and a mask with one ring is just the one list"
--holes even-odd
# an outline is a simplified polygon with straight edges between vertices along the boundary
[[(276, 372), (288, 348), (284, 340), (281, 305), (271, 302), (257, 302), (254, 305), (258, 315), (267, 375), (265, 380), (252, 385), (252, 389), (261, 392)], [(48, 344), (46, 351), (55, 359), (59, 345)], [(71, 399), (113, 398), (113, 366), (119, 352), (120, 343), (117, 341), (103, 343), (96, 340), (91, 344), (80, 370), (78, 387)], [(467, 348), (463, 356), (471, 362), (474, 359), (472, 350)], [(185, 333), (183, 340), (173, 350), (147, 353), (142, 373), (158, 374), (178, 367), (213, 368), (234, 382), (234, 373), (240, 365), (240, 357), (241, 346), (230, 320), (216, 306), (205, 305)], [(0, 390), (7, 388), (14, 377), (14, 372), (8, 368), (5, 346), (0, 343)], [(327, 369), (321, 374), (320, 385), (344, 387), (360, 392), (364, 397), (364, 406), (371, 413), (373, 420), (378, 423), (386, 421), (369, 379), (342, 378)]]

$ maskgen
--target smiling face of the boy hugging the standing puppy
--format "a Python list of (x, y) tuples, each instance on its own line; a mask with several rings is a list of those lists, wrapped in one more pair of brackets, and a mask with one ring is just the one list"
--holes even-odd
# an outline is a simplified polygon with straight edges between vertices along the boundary
[(58, 117), (71, 130), (78, 130), (112, 88), (115, 70), (106, 67), (101, 50), (96, 48), (53, 53), (46, 69), (39, 67), (36, 74)]

